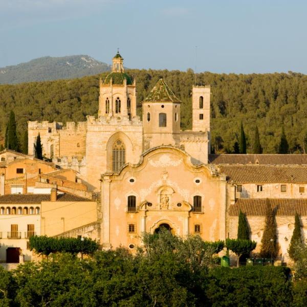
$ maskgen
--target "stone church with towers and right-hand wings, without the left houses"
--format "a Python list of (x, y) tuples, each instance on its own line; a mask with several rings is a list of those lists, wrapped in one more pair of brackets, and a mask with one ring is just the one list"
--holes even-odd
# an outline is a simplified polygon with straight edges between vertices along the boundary
[(162, 226), (205, 240), (236, 237), (239, 210), (260, 243), (269, 202), (280, 257), (287, 258), (295, 212), (307, 225), (307, 156), (211, 155), (210, 86), (192, 87), (191, 130), (180, 129), (181, 101), (163, 79), (142, 101), (141, 120), (136, 80), (124, 72), (119, 53), (99, 91), (97, 118), (66, 126), (28, 122), (28, 143), (31, 155), (39, 133), (47, 158), (75, 169), (100, 193), (103, 248), (134, 249), (143, 232)]

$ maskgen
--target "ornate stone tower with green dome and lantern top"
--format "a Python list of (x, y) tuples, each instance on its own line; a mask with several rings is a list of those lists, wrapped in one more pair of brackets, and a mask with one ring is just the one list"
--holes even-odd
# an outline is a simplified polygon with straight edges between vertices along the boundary
[(128, 117), (137, 115), (136, 82), (124, 72), (123, 57), (117, 51), (112, 72), (100, 79), (98, 117)]

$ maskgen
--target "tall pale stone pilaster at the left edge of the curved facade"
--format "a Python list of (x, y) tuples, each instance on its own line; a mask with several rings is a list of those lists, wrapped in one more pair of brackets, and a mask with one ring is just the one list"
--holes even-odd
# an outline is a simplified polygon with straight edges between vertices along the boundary
[(110, 242), (110, 184), (111, 180), (105, 176), (101, 182), (101, 212), (102, 212), (102, 227), (101, 235), (102, 248), (104, 250), (111, 249)]

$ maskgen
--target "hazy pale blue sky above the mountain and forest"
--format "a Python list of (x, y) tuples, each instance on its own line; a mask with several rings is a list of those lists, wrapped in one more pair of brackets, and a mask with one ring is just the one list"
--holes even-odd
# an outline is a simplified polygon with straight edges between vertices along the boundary
[(129, 68), (307, 73), (307, 1), (0, 0), (0, 67), (87, 54)]

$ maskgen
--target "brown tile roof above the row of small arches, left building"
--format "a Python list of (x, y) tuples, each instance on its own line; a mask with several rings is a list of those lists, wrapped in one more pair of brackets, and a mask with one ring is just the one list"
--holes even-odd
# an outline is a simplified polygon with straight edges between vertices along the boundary
[[(57, 195), (58, 202), (90, 202), (91, 200), (69, 193)], [(0, 204), (40, 204), (50, 202), (50, 194), (7, 194), (0, 196)]]

